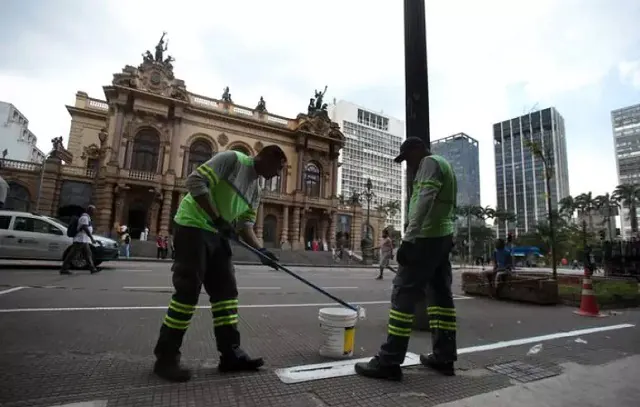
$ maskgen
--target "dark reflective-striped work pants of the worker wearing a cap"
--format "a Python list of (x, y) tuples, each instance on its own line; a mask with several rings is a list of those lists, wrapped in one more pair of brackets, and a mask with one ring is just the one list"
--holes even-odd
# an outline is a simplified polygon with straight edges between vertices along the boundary
[(453, 237), (417, 239), (413, 264), (400, 266), (393, 279), (387, 341), (378, 358), (383, 365), (400, 365), (409, 346), (416, 303), (427, 299), (433, 354), (440, 362), (457, 360), (456, 310), (451, 293), (449, 253)]

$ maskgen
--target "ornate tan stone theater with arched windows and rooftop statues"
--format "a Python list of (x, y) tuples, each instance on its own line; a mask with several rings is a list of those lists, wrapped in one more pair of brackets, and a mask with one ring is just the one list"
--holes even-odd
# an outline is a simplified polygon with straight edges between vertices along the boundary
[(331, 246), (337, 232), (346, 232), (358, 249), (367, 227), (377, 241), (384, 219), (371, 211), (367, 226), (366, 203), (344, 205), (337, 197), (345, 138), (327, 116), (323, 92), (316, 91), (307, 113), (295, 119), (270, 113), (262, 97), (254, 108), (238, 105), (228, 87), (220, 99), (197, 95), (174, 76), (174, 59), (165, 57), (163, 44), (143, 54), (139, 66), (114, 74), (104, 99), (76, 93), (67, 106), (67, 148), (54, 139), (44, 165), (0, 160), (10, 184), (8, 208), (64, 218), (92, 202), (98, 233), (113, 234), (121, 224), (134, 238), (146, 227), (151, 238), (165, 235), (196, 166), (220, 151), (255, 155), (277, 144), (288, 165), (262, 180), (255, 227), (266, 246), (302, 249), (313, 239)]

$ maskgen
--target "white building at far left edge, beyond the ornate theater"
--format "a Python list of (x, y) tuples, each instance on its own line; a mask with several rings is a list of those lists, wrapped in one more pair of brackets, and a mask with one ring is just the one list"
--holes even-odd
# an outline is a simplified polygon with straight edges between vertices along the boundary
[(2, 158), (41, 163), (44, 153), (36, 147), (37, 137), (29, 120), (11, 103), (0, 102), (0, 153)]

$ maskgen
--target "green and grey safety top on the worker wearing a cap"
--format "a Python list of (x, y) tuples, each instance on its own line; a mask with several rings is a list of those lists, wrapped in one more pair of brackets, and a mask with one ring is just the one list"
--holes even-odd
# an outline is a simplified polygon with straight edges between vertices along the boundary
[(428, 158), (438, 163), (442, 174), (441, 180), (415, 180), (409, 201), (409, 213), (415, 208), (420, 190), (437, 189), (438, 194), (433, 201), (431, 212), (425, 217), (420, 227), (419, 237), (442, 237), (452, 235), (455, 227), (456, 194), (458, 193), (456, 175), (451, 164), (441, 156), (431, 155)]

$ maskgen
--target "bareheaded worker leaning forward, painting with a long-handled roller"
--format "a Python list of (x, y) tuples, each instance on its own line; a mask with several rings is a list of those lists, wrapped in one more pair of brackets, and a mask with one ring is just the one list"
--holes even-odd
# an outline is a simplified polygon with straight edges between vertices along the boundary
[[(180, 347), (204, 285), (211, 302), (220, 372), (260, 368), (262, 358), (249, 357), (240, 347), (238, 288), (231, 262), (230, 238), (236, 233), (258, 249), (263, 264), (276, 268), (277, 257), (264, 249), (253, 231), (260, 204), (258, 177), (280, 173), (286, 156), (276, 145), (264, 147), (255, 158), (238, 151), (216, 154), (186, 180), (189, 193), (174, 218), (174, 294), (160, 328), (154, 353), (154, 372), (169, 381), (190, 379), (180, 365)], [(231, 226), (236, 222), (238, 229)]]

